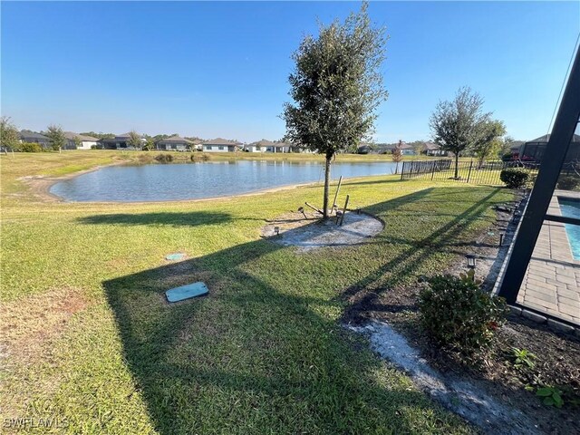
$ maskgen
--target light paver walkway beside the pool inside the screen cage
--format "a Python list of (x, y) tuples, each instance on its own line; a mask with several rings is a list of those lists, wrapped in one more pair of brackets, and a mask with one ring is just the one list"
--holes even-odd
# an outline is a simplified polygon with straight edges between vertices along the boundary
[[(548, 213), (561, 216), (556, 195)], [(517, 302), (580, 325), (580, 261), (572, 256), (564, 224), (544, 221)]]

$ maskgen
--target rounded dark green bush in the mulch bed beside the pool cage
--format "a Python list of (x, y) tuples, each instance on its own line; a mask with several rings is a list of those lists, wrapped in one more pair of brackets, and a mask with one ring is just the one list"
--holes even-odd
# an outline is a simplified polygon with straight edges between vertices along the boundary
[(482, 290), (472, 275), (437, 275), (428, 283), (420, 292), (419, 309), (421, 323), (431, 338), (464, 354), (487, 347), (505, 322), (507, 305), (503, 298)]

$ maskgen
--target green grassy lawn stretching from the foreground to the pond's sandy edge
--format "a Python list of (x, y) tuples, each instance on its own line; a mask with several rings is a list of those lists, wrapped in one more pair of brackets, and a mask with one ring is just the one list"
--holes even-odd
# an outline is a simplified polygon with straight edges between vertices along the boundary
[[(380, 216), (382, 233), (298, 253), (259, 231), (304, 201), (320, 203), (319, 185), (111, 206), (44, 202), (17, 180), (124, 158), (0, 160), (3, 421), (66, 419), (53, 431), (71, 433), (471, 431), (340, 319), (357, 289), (388, 292), (445, 268), (492, 222), (491, 207), (512, 198), (507, 190), (351, 179), (342, 194)], [(170, 252), (189, 258), (169, 264)], [(200, 279), (207, 297), (165, 302), (170, 286)]]

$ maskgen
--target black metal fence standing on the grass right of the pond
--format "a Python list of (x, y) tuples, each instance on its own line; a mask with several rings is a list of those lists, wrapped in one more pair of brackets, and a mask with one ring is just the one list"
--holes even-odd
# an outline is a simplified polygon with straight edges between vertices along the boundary
[(499, 179), (499, 174), (503, 169), (520, 168), (536, 175), (538, 167), (537, 163), (523, 161), (460, 160), (456, 172), (455, 160), (414, 160), (403, 161), (401, 179), (452, 179), (463, 183), (500, 186), (503, 183)]

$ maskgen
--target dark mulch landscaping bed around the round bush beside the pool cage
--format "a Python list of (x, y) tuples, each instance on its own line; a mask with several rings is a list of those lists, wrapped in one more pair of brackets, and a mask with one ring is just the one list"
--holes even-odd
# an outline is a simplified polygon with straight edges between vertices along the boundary
[[(497, 222), (473, 239), (469, 252), (495, 256), (498, 233), (506, 230), (506, 222), (506, 213), (499, 212)], [(458, 257), (454, 266), (441, 272), (458, 275), (464, 261)], [(546, 325), (510, 314), (507, 324), (497, 331), (497, 340), (488, 352), (467, 358), (445, 351), (432, 343), (421, 328), (417, 302), (423, 285), (416, 282), (353, 291), (343, 322), (350, 325), (372, 324), (373, 321), (390, 324), (432, 368), (453, 379), (478, 385), (481, 391), (527, 415), (538, 431), (558, 434), (577, 431), (580, 427), (580, 339), (577, 336), (557, 333)], [(516, 364), (515, 349), (533, 353), (536, 358), (529, 360), (533, 367), (526, 363)], [(546, 385), (563, 391), (562, 408), (546, 406), (542, 402), (544, 398), (536, 396), (537, 389)]]

